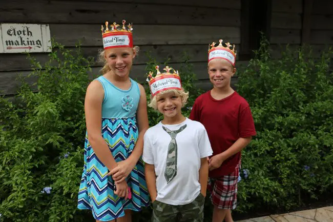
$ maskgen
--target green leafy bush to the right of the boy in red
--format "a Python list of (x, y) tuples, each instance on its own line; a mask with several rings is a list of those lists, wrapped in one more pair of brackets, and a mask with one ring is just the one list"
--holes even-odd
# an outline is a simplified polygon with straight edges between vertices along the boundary
[(332, 51), (320, 59), (308, 47), (283, 54), (270, 58), (262, 39), (256, 58), (239, 73), (238, 92), (257, 130), (242, 155), (239, 211), (289, 209), (333, 187)]

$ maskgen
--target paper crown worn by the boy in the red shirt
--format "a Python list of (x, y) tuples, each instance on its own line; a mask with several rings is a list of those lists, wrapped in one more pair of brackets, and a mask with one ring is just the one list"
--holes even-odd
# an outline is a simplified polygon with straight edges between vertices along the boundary
[(208, 47), (208, 62), (214, 58), (222, 58), (230, 62), (233, 66), (236, 64), (236, 55), (235, 45), (226, 43), (225, 46), (222, 45), (223, 40), (219, 40), (220, 44), (215, 46), (216, 43), (212, 43)]

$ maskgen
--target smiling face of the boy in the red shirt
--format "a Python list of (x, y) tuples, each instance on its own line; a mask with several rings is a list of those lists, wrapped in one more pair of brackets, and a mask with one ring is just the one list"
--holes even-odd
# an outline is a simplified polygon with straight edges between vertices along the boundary
[(235, 72), (236, 68), (221, 58), (215, 58), (208, 64), (208, 74), (216, 88), (230, 87), (231, 77)]

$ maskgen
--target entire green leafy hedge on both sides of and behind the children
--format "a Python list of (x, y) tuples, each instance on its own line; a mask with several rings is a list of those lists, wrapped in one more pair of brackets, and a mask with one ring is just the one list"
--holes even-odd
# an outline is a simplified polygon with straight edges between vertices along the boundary
[[(29, 56), (38, 92), (23, 84), (12, 102), (0, 97), (0, 221), (94, 221), (91, 212), (76, 209), (92, 61), (79, 47), (74, 52), (52, 45), (43, 66)], [(295, 58), (287, 50), (274, 60), (262, 41), (257, 58), (238, 71), (237, 90), (252, 108), (258, 133), (242, 155), (239, 212), (288, 209), (333, 188), (331, 51), (320, 60), (305, 52)], [(158, 65), (148, 59), (147, 72)], [(188, 59), (184, 54), (184, 62), (174, 67), (190, 91), (185, 116), (201, 94)], [(162, 118), (151, 108), (148, 114), (150, 126)], [(209, 201), (205, 215), (210, 221)], [(134, 221), (150, 217), (149, 207), (134, 213)]]

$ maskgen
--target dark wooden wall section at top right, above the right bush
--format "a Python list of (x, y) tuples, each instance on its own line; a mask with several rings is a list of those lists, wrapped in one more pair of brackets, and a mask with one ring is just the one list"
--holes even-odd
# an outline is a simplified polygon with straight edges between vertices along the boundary
[(288, 44), (297, 50), (310, 44), (315, 57), (333, 46), (333, 1), (272, 0), (270, 43), (272, 55)]

